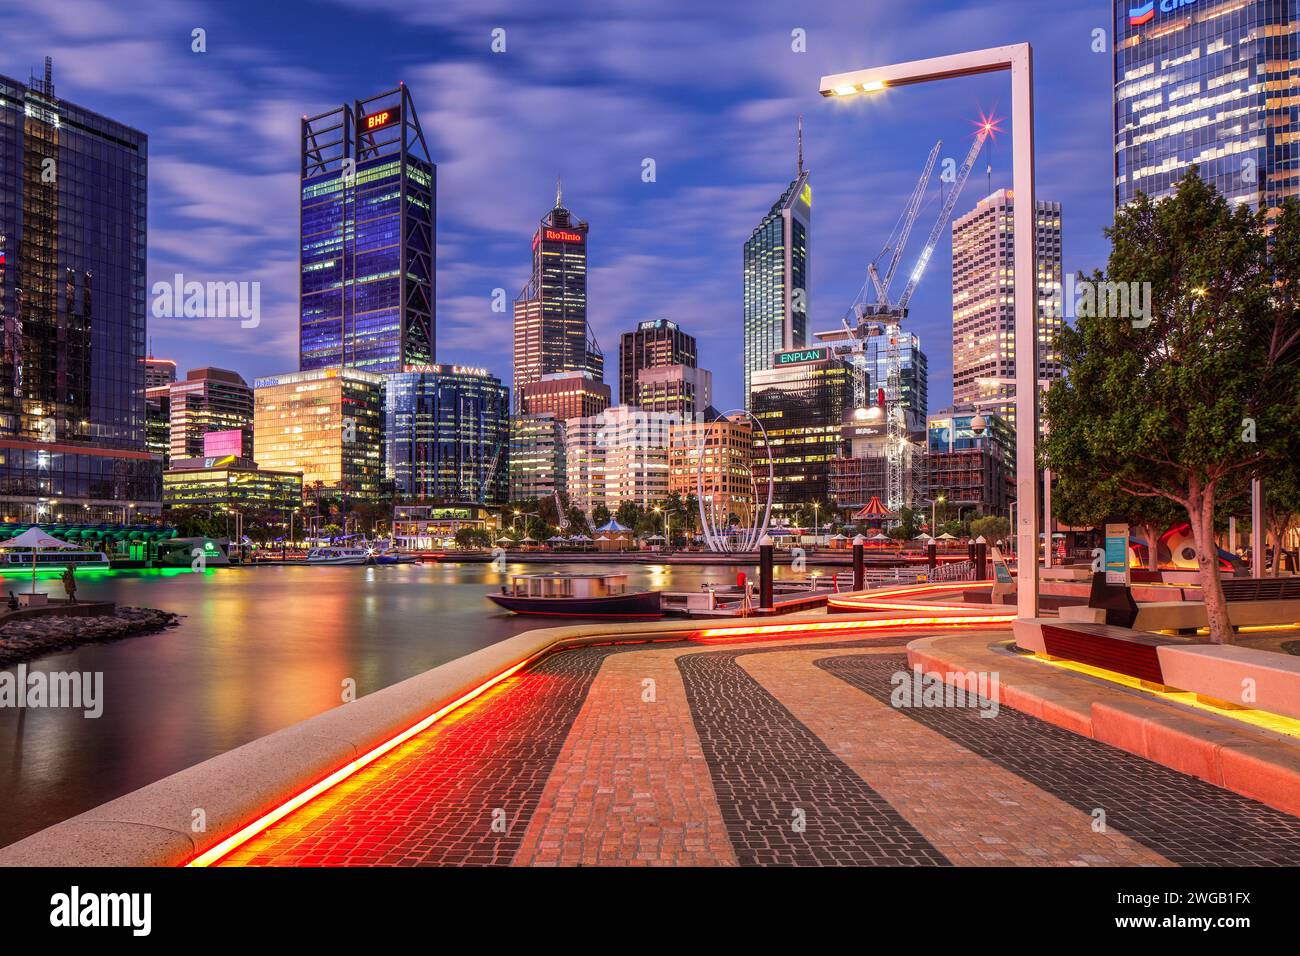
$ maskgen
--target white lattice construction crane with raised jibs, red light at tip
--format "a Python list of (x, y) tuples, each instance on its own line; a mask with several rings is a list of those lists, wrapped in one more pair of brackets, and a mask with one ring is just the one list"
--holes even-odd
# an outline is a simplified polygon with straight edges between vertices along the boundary
[[(957, 199), (966, 186), (966, 179), (970, 178), (979, 151), (984, 148), (984, 142), (994, 131), (997, 131), (994, 121), (988, 117), (982, 118), (979, 131), (975, 134), (975, 142), (971, 143), (970, 152), (966, 153), (965, 161), (957, 170), (953, 186), (948, 191), (948, 198), (944, 200), (939, 216), (935, 219), (935, 225), (926, 238), (926, 245), (922, 246), (920, 255), (916, 258), (916, 264), (907, 277), (907, 285), (904, 287), (902, 295), (898, 297), (898, 302), (890, 303), (889, 286), (898, 269), (898, 261), (902, 258), (904, 247), (907, 245), (907, 237), (911, 235), (913, 225), (920, 213), (922, 198), (930, 186), (935, 161), (944, 144), (942, 140), (935, 143), (935, 148), (930, 151), (930, 157), (926, 160), (926, 168), (922, 172), (920, 179), (916, 182), (916, 187), (913, 190), (906, 206), (904, 206), (894, 232), (889, 235), (889, 241), (880, 255), (876, 256), (876, 260), (867, 267), (867, 281), (863, 282), (857, 299), (854, 299), (849, 311), (841, 319), (845, 332), (853, 339), (853, 345), (837, 351), (857, 351), (861, 354), (864, 350), (864, 342), (868, 336), (885, 336), (885, 388), (883, 390), (883, 407), (880, 408), (888, 424), (885, 441), (885, 506), (896, 514), (907, 503), (907, 497), (910, 497), (905, 494), (904, 488), (907, 467), (907, 423), (902, 410), (902, 320), (907, 317), (907, 306), (911, 302), (913, 293), (916, 291), (918, 284), (926, 274), (926, 267), (930, 264), (935, 247), (939, 245), (948, 220), (953, 215), (953, 208), (957, 206)], [(889, 265), (881, 277), (876, 263), (885, 255), (889, 256)], [(874, 302), (867, 302), (868, 286), (875, 294)], [(863, 405), (859, 401), (858, 406), (862, 407)]]

